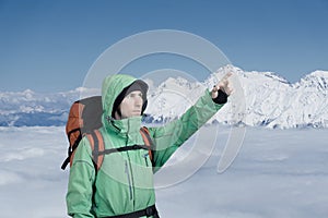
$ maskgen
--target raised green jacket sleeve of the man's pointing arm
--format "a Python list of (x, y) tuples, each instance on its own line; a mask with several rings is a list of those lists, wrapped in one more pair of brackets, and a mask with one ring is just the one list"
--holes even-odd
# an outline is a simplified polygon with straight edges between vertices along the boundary
[(224, 104), (215, 104), (211, 93), (206, 90), (197, 102), (191, 106), (178, 120), (161, 128), (149, 128), (156, 149), (154, 152), (154, 171), (157, 171), (197, 130), (212, 118)]

